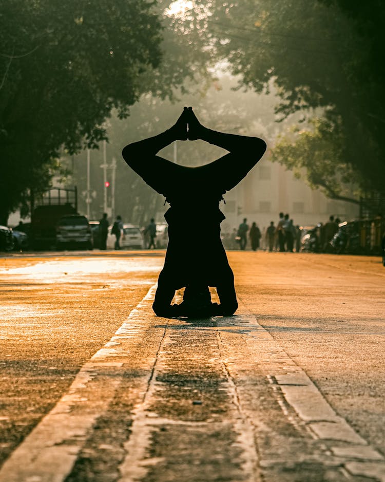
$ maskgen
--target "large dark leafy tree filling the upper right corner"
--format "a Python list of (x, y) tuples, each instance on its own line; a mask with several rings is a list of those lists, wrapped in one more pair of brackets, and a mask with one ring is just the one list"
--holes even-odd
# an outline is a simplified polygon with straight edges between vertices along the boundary
[(262, 92), (274, 81), (278, 120), (322, 109), (342, 145), (336, 171), (351, 166), (361, 191), (383, 195), (384, 20), (379, 0), (214, 0), (208, 28), (242, 85)]

